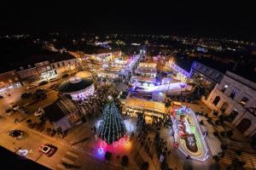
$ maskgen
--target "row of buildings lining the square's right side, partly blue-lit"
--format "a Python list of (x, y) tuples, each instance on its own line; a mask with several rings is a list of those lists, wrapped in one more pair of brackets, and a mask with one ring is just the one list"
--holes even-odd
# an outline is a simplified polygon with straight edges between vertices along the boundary
[[(209, 63), (210, 65), (210, 63)], [(182, 60), (170, 59), (166, 67), (176, 72), (183, 82), (200, 83), (206, 89), (202, 101), (212, 111), (228, 116), (241, 133), (256, 140), (256, 83), (241, 77), (239, 71), (220, 65), (213, 69), (205, 63), (193, 61), (185, 65)], [(214, 67), (215, 68), (215, 67)], [(230, 71), (231, 70), (231, 71)], [(248, 74), (254, 74), (250, 72)]]

